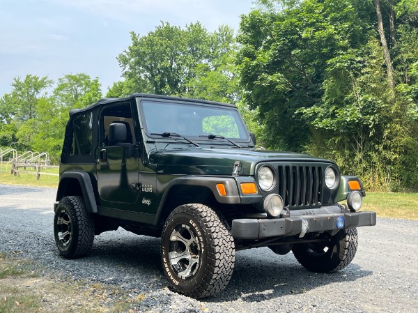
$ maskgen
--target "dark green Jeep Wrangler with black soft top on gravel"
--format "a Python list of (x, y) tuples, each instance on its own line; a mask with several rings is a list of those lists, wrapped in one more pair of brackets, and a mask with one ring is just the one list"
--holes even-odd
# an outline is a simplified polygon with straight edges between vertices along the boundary
[(292, 251), (320, 273), (348, 266), (355, 227), (376, 224), (359, 212), (359, 178), (255, 146), (238, 109), (219, 102), (133, 94), (71, 110), (54, 203), (59, 254), (85, 256), (118, 227), (161, 237), (169, 287), (193, 298), (226, 287), (237, 250)]

